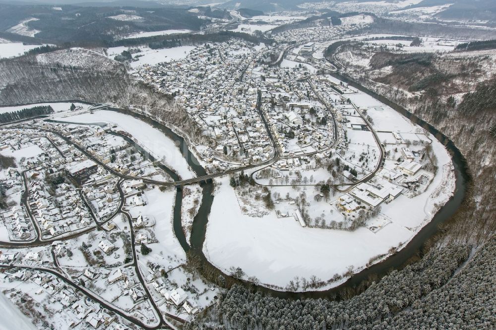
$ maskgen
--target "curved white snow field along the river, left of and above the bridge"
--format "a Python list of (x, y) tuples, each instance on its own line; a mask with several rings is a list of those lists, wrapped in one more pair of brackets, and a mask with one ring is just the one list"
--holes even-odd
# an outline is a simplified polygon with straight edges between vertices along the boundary
[(173, 140), (158, 129), (132, 116), (108, 110), (95, 111), (64, 118), (74, 122), (108, 122), (117, 124), (116, 130), (124, 130), (132, 135), (139, 145), (149, 151), (155, 158), (171, 166), (183, 179), (194, 177), (186, 160)]

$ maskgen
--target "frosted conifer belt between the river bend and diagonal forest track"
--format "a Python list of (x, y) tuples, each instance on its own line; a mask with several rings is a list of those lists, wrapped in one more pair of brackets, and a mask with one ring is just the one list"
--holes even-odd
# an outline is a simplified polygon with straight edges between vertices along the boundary
[[(221, 295), (217, 313), (227, 329), (383, 329), (380, 325), (396, 313), (417, 306), (448, 282), (470, 251), (467, 245), (432, 250), (421, 261), (372, 282), (362, 294), (348, 300), (280, 299), (235, 285)], [(408, 324), (401, 326), (398, 329), (409, 328)], [(199, 325), (188, 327), (201, 329)], [(439, 324), (439, 328), (447, 327)]]

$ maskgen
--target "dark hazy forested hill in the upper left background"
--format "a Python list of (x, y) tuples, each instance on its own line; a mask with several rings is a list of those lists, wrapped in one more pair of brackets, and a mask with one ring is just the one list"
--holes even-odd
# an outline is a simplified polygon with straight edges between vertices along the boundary
[[(63, 5), (21, 5), (0, 3), (0, 32), (7, 32), (27, 19), (24, 24), (37, 40), (62, 45), (100, 45), (140, 31), (168, 29), (200, 30), (210, 22), (189, 12), (187, 8), (104, 7)], [(34, 18), (34, 19), (33, 19)], [(22, 37), (22, 41), (29, 42)], [(20, 39), (20, 38), (17, 38)]]

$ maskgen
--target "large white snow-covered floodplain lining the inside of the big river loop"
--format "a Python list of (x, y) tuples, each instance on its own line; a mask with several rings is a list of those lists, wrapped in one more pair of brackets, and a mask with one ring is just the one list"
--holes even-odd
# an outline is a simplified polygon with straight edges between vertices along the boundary
[[(417, 129), (398, 112), (364, 93), (350, 98), (357, 106), (370, 109), (368, 114), (376, 130), (413, 133)], [(384, 110), (372, 110), (374, 106)], [(220, 179), (204, 244), (207, 258), (227, 273), (232, 266), (241, 267), (247, 276), (254, 275), (261, 283), (280, 287), (285, 287), (294, 276), (308, 279), (316, 275), (327, 280), (351, 268), (360, 271), (372, 258), (404, 246), (432, 220), (438, 208), (435, 204), (444, 204), (452, 195), (454, 174), (450, 156), (441, 143), (433, 136), (430, 138), (439, 167), (433, 182), (419, 196), (400, 195), (383, 204), (381, 217), (391, 222), (376, 232), (367, 227), (355, 231), (303, 228), (292, 217), (277, 218), (274, 212), (261, 218), (249, 217), (242, 213), (229, 178)]]

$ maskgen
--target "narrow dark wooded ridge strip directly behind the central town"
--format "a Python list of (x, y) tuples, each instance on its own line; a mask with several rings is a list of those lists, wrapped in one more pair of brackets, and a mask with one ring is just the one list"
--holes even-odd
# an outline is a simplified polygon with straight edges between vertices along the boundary
[(172, 48), (178, 46), (196, 46), (203, 45), (207, 42), (226, 42), (231, 39), (241, 39), (247, 42), (258, 44), (265, 43), (271, 44), (272, 39), (267, 39), (263, 36), (256, 36), (248, 33), (233, 32), (233, 31), (220, 31), (218, 33), (207, 34), (178, 34), (178, 35), (162, 35), (151, 36), (133, 39), (123, 39), (115, 41), (109, 47), (119, 46), (139, 46), (147, 44), (152, 49), (158, 48)]

